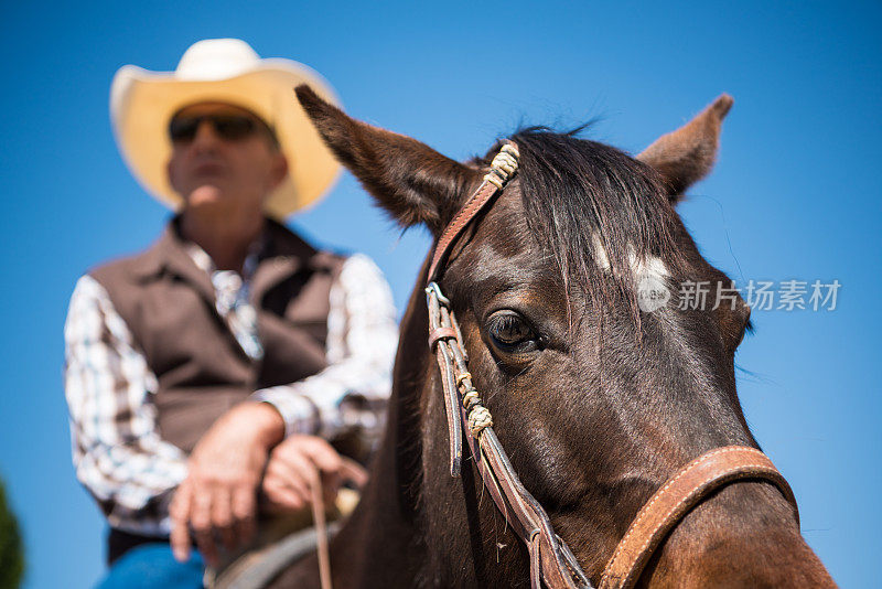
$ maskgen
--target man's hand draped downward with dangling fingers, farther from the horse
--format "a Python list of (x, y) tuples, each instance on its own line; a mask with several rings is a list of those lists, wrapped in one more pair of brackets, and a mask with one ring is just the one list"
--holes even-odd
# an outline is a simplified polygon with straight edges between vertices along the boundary
[(244, 403), (224, 414), (190, 454), (187, 478), (169, 508), (171, 546), (190, 558), (190, 528), (209, 565), (217, 564), (215, 534), (228, 550), (255, 532), (256, 497), (269, 450), (284, 437), (279, 413), (265, 403)]

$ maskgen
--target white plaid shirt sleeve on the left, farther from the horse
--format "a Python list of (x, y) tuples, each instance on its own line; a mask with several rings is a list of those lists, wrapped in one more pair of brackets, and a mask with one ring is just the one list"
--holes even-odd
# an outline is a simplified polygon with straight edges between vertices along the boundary
[(77, 281), (65, 339), (65, 396), (77, 479), (111, 526), (164, 536), (186, 456), (160, 438), (151, 395), (157, 379), (107, 291)]

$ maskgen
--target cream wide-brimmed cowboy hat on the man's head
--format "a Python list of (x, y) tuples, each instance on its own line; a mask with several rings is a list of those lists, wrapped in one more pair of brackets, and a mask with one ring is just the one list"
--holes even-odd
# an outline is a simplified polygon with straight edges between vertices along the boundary
[(277, 218), (316, 201), (331, 186), (340, 164), (294, 99), (293, 88), (309, 84), (337, 104), (334, 90), (316, 72), (282, 58), (261, 60), (238, 39), (194, 43), (174, 72), (149, 72), (133, 65), (117, 71), (110, 87), (110, 118), (117, 144), (135, 178), (173, 208), (183, 202), (166, 175), (172, 146), (169, 121), (195, 103), (229, 103), (262, 118), (279, 138), (289, 172), (267, 199)]

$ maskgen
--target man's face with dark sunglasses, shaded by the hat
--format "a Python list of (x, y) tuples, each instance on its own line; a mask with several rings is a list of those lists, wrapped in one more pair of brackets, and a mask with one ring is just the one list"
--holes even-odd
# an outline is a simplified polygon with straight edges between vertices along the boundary
[(211, 207), (228, 215), (260, 212), (288, 173), (267, 127), (244, 108), (192, 105), (174, 116), (171, 129), (169, 181), (186, 208)]

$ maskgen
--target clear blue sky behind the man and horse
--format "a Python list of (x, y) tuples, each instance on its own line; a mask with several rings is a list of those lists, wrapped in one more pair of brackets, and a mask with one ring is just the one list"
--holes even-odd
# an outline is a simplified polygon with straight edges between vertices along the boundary
[[(2, 3), (0, 476), (25, 587), (100, 575), (104, 524), (71, 465), (62, 325), (76, 278), (168, 217), (117, 153), (110, 79), (128, 63), (172, 69), (216, 36), (311, 65), (352, 115), (455, 158), (523, 122), (595, 116), (593, 139), (636, 152), (734, 96), (717, 169), (680, 212), (736, 280), (842, 285), (831, 312), (754, 313), (739, 392), (808, 543), (842, 587), (876, 582), (880, 17), (878, 2)], [(352, 176), (292, 225), (373, 256), (402, 308), (428, 238), (400, 236)]]

